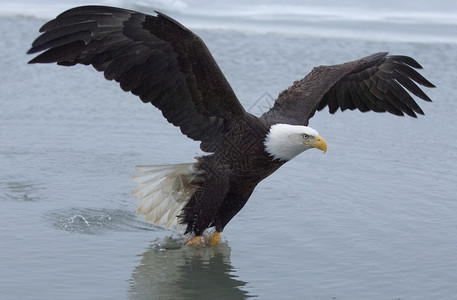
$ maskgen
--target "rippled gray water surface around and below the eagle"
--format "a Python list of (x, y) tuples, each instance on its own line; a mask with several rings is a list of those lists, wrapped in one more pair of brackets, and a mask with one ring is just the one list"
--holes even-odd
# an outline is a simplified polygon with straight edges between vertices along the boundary
[(27, 65), (42, 23), (0, 18), (2, 299), (457, 297), (455, 44), (198, 31), (255, 113), (313, 66), (378, 51), (438, 88), (418, 119), (317, 113), (327, 154), (286, 164), (221, 244), (192, 249), (130, 192), (135, 165), (190, 162), (198, 143), (92, 68)]

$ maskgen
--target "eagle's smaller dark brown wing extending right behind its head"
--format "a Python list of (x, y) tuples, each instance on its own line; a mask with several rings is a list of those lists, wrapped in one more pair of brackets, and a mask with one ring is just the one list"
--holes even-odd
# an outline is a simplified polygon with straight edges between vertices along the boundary
[(307, 125), (314, 113), (326, 106), (331, 114), (340, 108), (416, 117), (416, 113), (424, 112), (408, 91), (431, 101), (416, 83), (434, 87), (415, 70), (420, 68), (411, 57), (387, 56), (386, 52), (341, 65), (320, 66), (283, 91), (262, 118), (270, 123)]

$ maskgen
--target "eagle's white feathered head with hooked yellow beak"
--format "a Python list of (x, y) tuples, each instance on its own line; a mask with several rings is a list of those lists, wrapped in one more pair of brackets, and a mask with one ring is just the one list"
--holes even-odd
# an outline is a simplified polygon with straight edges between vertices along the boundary
[(311, 148), (317, 148), (324, 153), (327, 143), (316, 130), (308, 126), (275, 124), (270, 127), (265, 138), (265, 151), (273, 159), (291, 160), (298, 154)]

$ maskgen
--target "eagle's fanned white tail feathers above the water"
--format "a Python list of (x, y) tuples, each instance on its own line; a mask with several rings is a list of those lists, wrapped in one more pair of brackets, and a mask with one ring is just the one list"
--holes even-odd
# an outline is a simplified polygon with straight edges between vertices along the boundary
[(181, 227), (179, 215), (203, 181), (195, 163), (136, 166), (133, 181), (139, 186), (132, 192), (141, 200), (136, 212), (154, 225)]

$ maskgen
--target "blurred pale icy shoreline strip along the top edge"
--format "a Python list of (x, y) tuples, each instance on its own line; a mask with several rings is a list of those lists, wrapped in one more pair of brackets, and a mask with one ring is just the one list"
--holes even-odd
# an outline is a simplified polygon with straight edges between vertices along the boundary
[[(270, 1), (271, 2), (271, 1)], [(390, 7), (381, 3), (355, 6), (354, 1), (302, 4), (292, 0), (276, 3), (245, 4), (242, 1), (102, 1), (102, 5), (119, 6), (145, 13), (154, 9), (169, 14), (193, 30), (226, 30), (252, 34), (280, 34), (324, 38), (347, 38), (374, 41), (457, 44), (457, 4), (441, 1), (408, 7)], [(312, 2), (312, 1), (311, 1)], [(31, 0), (3, 1), (0, 16), (51, 19), (84, 1), (62, 4)]]

